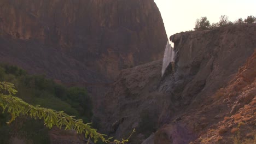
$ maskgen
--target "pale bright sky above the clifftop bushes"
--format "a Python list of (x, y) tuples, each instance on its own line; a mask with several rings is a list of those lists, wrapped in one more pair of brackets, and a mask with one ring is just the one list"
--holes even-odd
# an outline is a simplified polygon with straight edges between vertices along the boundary
[(256, 16), (256, 0), (154, 0), (165, 23), (167, 36), (192, 30), (196, 19), (206, 16), (213, 23), (221, 15), (230, 21)]

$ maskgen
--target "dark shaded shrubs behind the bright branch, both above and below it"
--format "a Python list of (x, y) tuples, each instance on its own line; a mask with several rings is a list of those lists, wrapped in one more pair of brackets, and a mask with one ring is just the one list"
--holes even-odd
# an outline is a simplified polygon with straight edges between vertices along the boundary
[[(84, 88), (66, 88), (44, 76), (31, 76), (26, 71), (13, 65), (0, 65), (0, 81), (14, 83), (18, 93), (16, 96), (32, 105), (40, 105), (56, 111), (64, 111), (68, 115), (82, 118), (90, 122), (92, 116), (91, 99)], [(86, 104), (86, 105), (85, 105)], [(0, 143), (9, 143), (9, 138), (26, 137), (33, 143), (49, 143), (48, 128), (43, 121), (21, 116), (18, 121), (6, 125), (10, 116), (0, 114)]]

